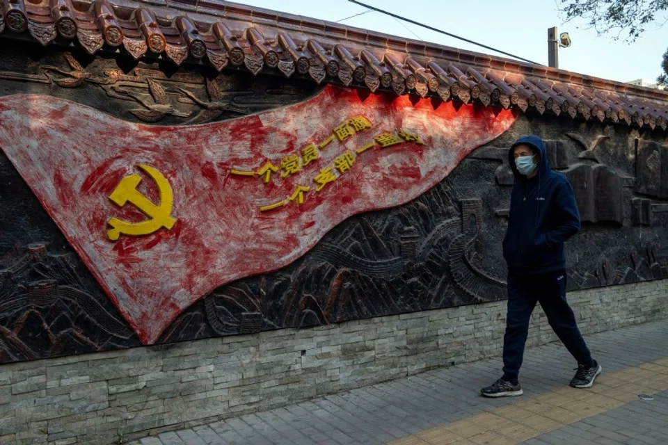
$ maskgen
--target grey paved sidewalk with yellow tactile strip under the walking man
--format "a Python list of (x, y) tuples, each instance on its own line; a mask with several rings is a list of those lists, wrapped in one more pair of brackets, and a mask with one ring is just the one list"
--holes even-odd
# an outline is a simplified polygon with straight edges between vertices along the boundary
[(591, 389), (568, 387), (575, 363), (561, 343), (551, 343), (527, 350), (520, 375), (525, 395), (518, 398), (479, 396), (500, 376), (499, 358), (132, 444), (668, 444), (668, 321), (586, 339), (603, 366)]

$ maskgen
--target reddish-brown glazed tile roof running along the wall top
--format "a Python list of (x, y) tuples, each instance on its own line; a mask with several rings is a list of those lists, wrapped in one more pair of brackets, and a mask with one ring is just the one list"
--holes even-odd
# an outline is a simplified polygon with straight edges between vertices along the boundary
[(0, 37), (667, 130), (668, 92), (221, 0), (0, 0)]

